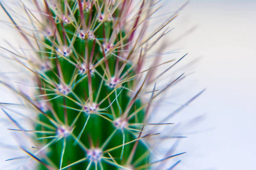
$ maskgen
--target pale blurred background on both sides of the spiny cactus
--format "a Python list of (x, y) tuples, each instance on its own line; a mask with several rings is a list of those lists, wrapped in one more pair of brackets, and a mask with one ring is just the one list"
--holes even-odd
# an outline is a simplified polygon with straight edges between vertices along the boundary
[[(157, 13), (159, 17), (152, 22), (161, 23), (166, 19), (164, 14), (177, 10), (185, 2), (163, 0), (164, 6)], [(2, 9), (0, 20), (7, 20)], [(177, 169), (254, 169), (256, 1), (191, 0), (169, 27), (174, 29), (166, 37), (166, 41), (171, 43), (168, 50), (181, 52), (165, 57), (180, 58), (189, 53), (173, 72), (175, 75), (186, 72), (189, 76), (168, 91), (165, 102), (159, 107), (159, 115), (170, 114), (207, 88), (204, 94), (172, 119), (172, 122), (184, 125), (180, 130), (188, 136), (177, 147), (177, 153), (187, 152), (181, 157)], [(22, 43), (15, 32), (0, 23), (0, 46), (7, 46), (3, 39), (14, 46)], [(6, 59), (1, 57), (0, 72), (12, 71), (10, 69)], [(14, 100), (6, 88), (0, 86), (0, 102)], [(10, 158), (6, 140), (10, 141), (8, 144), (15, 141), (6, 131), (6, 116), (0, 113), (2, 164)]]

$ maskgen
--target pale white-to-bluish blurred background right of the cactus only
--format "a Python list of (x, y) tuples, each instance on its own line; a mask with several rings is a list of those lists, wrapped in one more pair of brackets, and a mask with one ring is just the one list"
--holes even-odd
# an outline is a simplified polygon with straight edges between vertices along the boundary
[[(173, 10), (172, 2), (178, 1), (169, 1), (166, 10)], [(197, 26), (177, 45), (192, 58), (200, 58), (194, 64), (197, 82), (188, 94), (202, 85), (207, 88), (181, 114), (205, 115), (194, 130), (213, 127), (180, 144), (187, 151), (182, 160), (187, 169), (255, 168), (255, 9), (253, 0), (192, 0), (174, 25), (174, 36)]]

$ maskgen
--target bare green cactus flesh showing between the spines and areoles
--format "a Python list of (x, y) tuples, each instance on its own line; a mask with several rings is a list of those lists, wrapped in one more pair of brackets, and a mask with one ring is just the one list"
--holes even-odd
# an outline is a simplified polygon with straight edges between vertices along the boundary
[[(78, 25), (81, 25), (81, 16), (79, 12), (79, 3), (75, 3), (73, 1), (67, 1), (70, 8), (77, 8), (77, 10), (73, 13), (74, 17), (76, 18), (76, 22)], [(79, 1), (77, 1), (79, 2)], [(102, 1), (98, 1), (98, 3), (102, 4)], [(65, 4), (64, 0), (61, 0), (61, 4), (58, 8), (62, 8), (62, 10), (65, 10)], [(103, 7), (104, 8), (104, 7)], [(55, 11), (49, 8), (51, 15), (56, 18)], [(89, 22), (90, 17), (90, 10), (84, 12), (84, 23), (87, 25)], [(117, 8), (114, 12), (113, 16), (118, 16), (120, 13), (119, 9)], [(93, 4), (92, 9), (92, 18), (97, 16), (97, 10)], [(47, 18), (48, 24), (51, 23), (51, 20)], [(97, 21), (96, 25), (99, 24), (99, 21)], [(115, 34), (113, 32), (114, 27), (113, 21), (105, 21), (103, 24), (99, 26), (97, 31), (94, 33), (96, 38), (102, 42), (105, 42), (105, 40), (109, 40), (110, 36), (112, 34)], [(78, 28), (76, 28), (73, 24), (64, 23), (63, 20), (59, 20), (59, 22), (56, 22), (55, 25), (57, 30), (55, 30), (54, 34), (59, 34), (61, 37), (61, 43), (64, 44), (64, 42), (67, 42), (67, 46), (70, 47), (69, 40), (72, 40), (74, 35), (77, 34)], [(103, 26), (104, 25), (104, 26)], [(53, 32), (55, 26), (52, 26)], [(64, 29), (63, 29), (64, 28)], [(105, 31), (103, 31), (105, 29)], [(63, 31), (65, 30), (65, 31)], [(105, 37), (104, 37), (105, 32)], [(122, 30), (122, 34), (118, 33), (116, 36), (116, 41), (122, 39), (122, 37), (125, 37), (126, 30)], [(64, 37), (65, 35), (65, 37)], [(121, 37), (122, 36), (122, 37)], [(57, 36), (51, 36), (49, 39), (46, 38), (44, 42), (53, 47), (54, 51), (50, 49), (45, 49), (49, 54), (47, 54), (47, 57), (51, 58), (48, 59), (48, 61), (51, 62), (52, 70), (48, 70), (46, 72), (46, 76), (51, 79), (53, 82), (56, 82), (56, 87), (60, 85), (61, 83), (65, 83), (69, 86), (72, 93), (68, 94), (67, 96), (60, 95), (56, 99), (49, 100), (50, 105), (52, 106), (52, 109), (55, 111), (56, 115), (58, 116), (59, 120), (65, 124), (67, 123), (68, 126), (70, 126), (73, 121), (77, 118), (79, 115), (76, 123), (74, 124), (74, 129), (72, 131), (73, 135), (71, 136), (69, 133), (67, 136), (62, 137), (59, 140), (56, 140), (58, 138), (46, 138), (41, 140), (42, 146), (45, 144), (53, 142), (47, 149), (47, 158), (43, 159), (43, 162), (49, 162), (49, 160), (52, 162), (52, 164), (55, 165), (55, 167), (60, 167), (61, 159), (62, 159), (62, 165), (61, 167), (67, 167), (70, 164), (73, 164), (76, 161), (82, 160), (85, 157), (87, 157), (86, 160), (79, 162), (78, 164), (75, 164), (73, 166), (68, 167), (68, 170), (85, 170), (90, 169), (94, 170), (96, 167), (101, 168), (102, 166), (104, 170), (117, 170), (120, 167), (117, 167), (114, 164), (109, 164), (107, 161), (101, 159), (99, 161), (93, 161), (93, 158), (89, 158), (90, 154), (88, 155), (87, 152), (81, 147), (81, 145), (84, 145), (87, 147), (87, 149), (91, 148), (97, 148), (102, 147), (103, 144), (109, 139), (107, 144), (105, 144), (105, 147), (103, 149), (102, 156), (104, 157), (110, 157), (107, 152), (104, 153), (105, 150), (114, 148), (116, 146), (120, 146), (124, 143), (131, 142), (134, 139), (137, 139), (137, 136), (139, 132), (135, 133), (134, 131), (128, 131), (125, 128), (118, 128), (115, 126), (114, 118), (118, 118), (122, 116), (122, 114), (127, 111), (129, 104), (131, 103), (133, 97), (135, 94), (131, 93), (130, 91), (126, 90), (125, 88), (132, 89), (134, 87), (134, 83), (136, 83), (134, 80), (130, 80), (128, 82), (122, 83), (122, 86), (119, 88), (110, 87), (108, 84), (109, 82), (106, 82), (106, 80), (109, 80), (106, 77), (106, 63), (108, 63), (108, 67), (111, 73), (111, 76), (114, 76), (115, 74), (115, 67), (116, 64), (122, 66), (124, 61), (117, 60), (117, 57), (113, 54), (118, 55), (117, 52), (112, 51), (113, 54), (105, 54), (107, 58), (107, 62), (105, 62), (104, 55), (102, 52), (102, 47), (97, 43), (94, 42), (93, 39), (81, 39), (81, 37), (77, 36), (75, 42), (73, 43), (73, 49), (70, 56), (65, 59), (65, 55), (61, 55), (58, 53), (57, 45), (60, 45), (60, 42), (58, 42)], [(104, 40), (105, 38), (105, 40)], [(52, 41), (54, 43), (52, 43)], [(113, 42), (113, 44), (116, 43)], [(128, 38), (125, 40), (122, 40), (124, 43), (128, 42)], [(95, 46), (93, 45), (95, 43)], [(94, 47), (93, 47), (94, 46)], [(57, 52), (56, 52), (57, 51)], [(76, 54), (79, 54), (79, 56), (75, 56), (74, 51), (76, 51)], [(54, 52), (55, 54), (50, 54), (51, 52)], [(56, 55), (57, 53), (57, 55)], [(79, 74), (79, 68), (81, 69), (81, 63), (83, 61), (86, 63), (89, 61), (90, 56), (93, 54), (93, 64), (96, 62), (99, 62), (102, 60), (102, 64), (98, 65), (96, 68), (93, 68), (90, 70), (90, 75), (87, 73), (85, 74)], [(45, 56), (43, 56), (45, 57)], [(43, 58), (45, 60), (45, 58)], [(73, 65), (73, 63), (80, 63), (77, 66)], [(87, 62), (88, 64), (88, 62)], [(88, 65), (86, 65), (87, 67)], [(85, 68), (86, 69), (86, 68)], [(61, 71), (60, 71), (61, 70)], [(82, 71), (82, 70), (81, 70)], [(62, 73), (61, 73), (62, 72)], [(74, 72), (75, 74), (79, 74), (76, 78), (74, 83), (78, 82), (77, 85), (73, 88), (72, 86), (74, 83), (71, 83), (74, 78)], [(128, 73), (127, 73), (128, 72)], [(58, 78), (57, 74), (63, 75), (64, 82), (61, 82)], [(124, 70), (122, 71), (122, 74), (126, 73), (128, 77), (132, 77), (135, 75), (135, 71), (133, 68), (131, 68), (131, 64), (126, 64)], [(121, 76), (122, 76), (121, 74)], [(101, 76), (99, 76), (101, 75)], [(92, 94), (90, 94), (89, 86), (90, 86), (90, 79), (91, 77), (91, 87), (92, 87)], [(104, 80), (102, 80), (102, 77), (104, 77)], [(82, 79), (84, 78), (84, 79)], [(82, 79), (80, 81), (80, 79)], [(70, 84), (71, 83), (71, 84)], [(52, 94), (52, 91), (44, 91), (45, 88), (48, 88), (49, 82), (45, 80), (45, 78), (39, 78), (38, 79), (38, 85), (40, 85), (41, 90), (39, 91), (40, 94)], [(125, 88), (123, 88), (125, 87)], [(114, 90), (114, 92), (113, 92)], [(96, 111), (89, 111), (86, 110), (86, 108), (81, 108), (81, 106), (77, 105), (74, 101), (78, 101), (78, 99), (73, 95), (75, 94), (81, 101), (84, 102), (84, 106), (86, 107), (93, 107), (92, 103), (96, 102), (95, 99), (98, 96), (97, 102), (100, 102), (103, 100), (103, 102), (99, 105), (98, 108), (96, 108)], [(58, 94), (59, 95), (59, 94)], [(109, 96), (108, 96), (109, 95)], [(57, 96), (57, 94), (55, 94)], [(108, 96), (108, 98), (106, 98)], [(44, 99), (51, 99), (52, 96)], [(39, 100), (39, 99), (38, 99)], [(80, 102), (79, 102), (80, 103)], [(98, 103), (97, 103), (98, 104)], [(111, 105), (111, 107), (110, 107)], [(134, 113), (137, 111), (137, 109), (142, 107), (142, 101), (137, 98), (134, 104), (132, 105), (131, 109), (129, 110), (130, 113)], [(104, 109), (106, 108), (106, 109)], [(99, 111), (97, 111), (99, 109)], [(104, 110), (103, 110), (104, 109)], [(45, 112), (49, 117), (51, 117), (54, 121), (57, 122), (55, 119), (55, 116), (52, 114), (52, 111), (46, 111)], [(104, 117), (108, 118), (109, 120), (105, 119)], [(114, 115), (115, 114), (115, 115)], [(67, 115), (67, 119), (65, 119), (65, 115)], [(38, 116), (38, 120), (41, 122), (44, 122), (46, 124), (52, 125), (52, 122), (50, 122), (49, 118), (47, 118), (44, 114), (40, 114)], [(145, 110), (141, 109), (138, 111), (135, 116), (133, 116), (131, 119), (129, 119), (129, 123), (143, 123), (145, 120)], [(83, 129), (84, 125), (86, 124), (83, 133), (80, 136), (79, 142), (76, 141), (79, 134), (81, 133), (81, 130)], [(56, 127), (56, 134), (51, 134), (49, 136), (58, 136), (60, 135), (60, 131), (62, 130), (63, 133), (65, 133), (65, 129), (61, 129), (64, 127), (60, 126)], [(43, 127), (42, 125), (38, 124), (36, 125), (36, 130), (49, 130), (47, 127)], [(142, 128), (137, 128), (138, 131)], [(117, 130), (116, 130), (117, 129)], [(113, 134), (113, 132), (115, 133)], [(113, 134), (113, 136), (111, 136)], [(137, 135), (136, 135), (137, 134)], [(47, 135), (48, 136), (48, 135)], [(37, 137), (43, 138), (46, 137), (45, 134), (38, 133)], [(117, 149), (110, 151), (109, 153), (113, 157), (113, 159), (116, 161), (117, 164), (126, 166), (126, 163), (128, 161), (128, 157), (132, 152), (132, 148), (134, 147), (134, 144), (136, 142), (131, 142), (130, 144), (125, 144), (123, 147), (118, 147)], [(64, 152), (63, 158), (61, 158), (62, 154)], [(132, 158), (132, 161), (130, 164), (132, 164), (134, 161), (136, 161), (139, 158), (142, 158), (137, 165), (147, 164), (148, 163), (148, 149), (145, 146), (145, 144), (140, 140), (138, 141), (138, 145), (136, 147), (135, 154)], [(141, 157), (142, 156), (142, 157)], [(111, 159), (109, 159), (111, 160)], [(111, 160), (112, 161), (112, 160)], [(102, 164), (102, 165), (100, 165)], [(89, 167), (90, 166), (90, 167)], [(38, 165), (38, 170), (47, 170), (47, 167), (45, 167), (43, 164)]]

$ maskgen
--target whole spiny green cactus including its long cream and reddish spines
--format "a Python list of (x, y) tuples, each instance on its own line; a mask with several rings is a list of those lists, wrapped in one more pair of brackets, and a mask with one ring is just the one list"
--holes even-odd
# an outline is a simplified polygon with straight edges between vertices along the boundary
[[(144, 170), (162, 169), (159, 164), (183, 154), (152, 161), (149, 141), (157, 139), (158, 127), (172, 123), (166, 122), (170, 115), (148, 123), (152, 102), (183, 74), (161, 89), (156, 81), (180, 59), (160, 63), (156, 57), (145, 69), (148, 51), (179, 10), (148, 36), (148, 19), (159, 10), (153, 0), (141, 0), (137, 8), (132, 0), (44, 0), (44, 8), (33, 3), (41, 19), (23, 4), (31, 32), (0, 3), (34, 51), (33, 57), (12, 52), (12, 59), (33, 74), (33, 97), (1, 81), (36, 115), (34, 130), (25, 130), (2, 108), (17, 127), (12, 130), (29, 133), (34, 150), (20, 146), (30, 156), (25, 162), (35, 159), (38, 170)], [(170, 63), (155, 75), (160, 65)]]

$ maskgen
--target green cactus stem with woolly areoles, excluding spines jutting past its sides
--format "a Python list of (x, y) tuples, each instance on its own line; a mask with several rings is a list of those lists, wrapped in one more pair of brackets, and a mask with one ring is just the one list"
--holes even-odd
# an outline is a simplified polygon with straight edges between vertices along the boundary
[[(96, 2), (100, 5), (97, 6)], [(68, 11), (65, 15), (64, 11), (68, 7), (73, 9), (72, 13)], [(137, 139), (136, 134), (142, 127), (134, 128), (129, 124), (143, 123), (145, 111), (140, 99), (135, 100), (134, 95), (127, 90), (134, 88), (134, 81), (130, 79), (122, 82), (135, 75), (134, 65), (116, 57), (120, 55), (116, 51), (121, 51), (121, 48), (111, 49), (116, 43), (128, 42), (126, 30), (123, 28), (120, 32), (117, 31), (120, 20), (114, 21), (104, 14), (99, 16), (100, 7), (111, 11), (112, 15), (109, 17), (121, 18), (118, 17), (122, 15), (120, 9), (116, 8), (121, 6), (107, 0), (91, 3), (61, 0), (60, 3), (49, 6), (49, 14), (55, 20), (48, 19), (52, 23), (48, 31), (55, 33), (49, 34), (45, 43), (53, 49), (46, 48), (49, 54), (41, 60), (51, 63), (52, 69), (45, 71), (45, 75), (42, 74), (38, 85), (41, 86), (41, 95), (52, 94), (52, 91), (45, 91), (50, 88), (59, 97), (45, 97), (46, 100), (52, 99), (46, 104), (52, 108), (45, 113), (56, 123), (57, 129), (53, 138), (42, 139), (41, 142), (52, 143), (48, 147), (47, 157), (60, 169), (69, 167), (70, 170), (83, 170), (98, 167), (114, 170), (120, 168), (117, 164), (130, 166), (140, 156), (143, 157), (138, 166), (148, 162), (148, 149), (140, 141), (130, 162), (127, 162)], [(96, 27), (96, 31), (91, 31)], [(111, 36), (116, 38), (109, 42)], [(38, 103), (40, 105), (40, 101)], [(51, 110), (55, 115), (51, 114)], [(129, 117), (132, 113), (134, 116)], [(40, 114), (38, 119), (52, 125), (44, 114)], [(37, 125), (36, 130), (44, 130), (44, 127)], [(47, 135), (38, 134), (38, 137), (44, 138)], [(131, 144), (126, 144), (129, 142)], [(112, 151), (111, 148), (115, 147), (117, 148)], [(87, 159), (84, 160), (85, 158)], [(109, 163), (112, 162), (111, 159), (116, 163)], [(79, 160), (81, 162), (72, 165)], [(47, 162), (47, 159), (44, 161)], [(41, 164), (38, 169), (47, 167)]]

